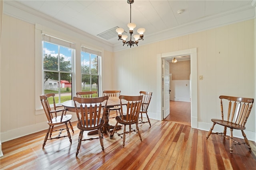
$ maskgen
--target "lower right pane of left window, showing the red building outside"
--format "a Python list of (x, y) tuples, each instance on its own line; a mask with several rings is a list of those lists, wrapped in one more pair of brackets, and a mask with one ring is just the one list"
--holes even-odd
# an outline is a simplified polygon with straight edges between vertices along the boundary
[(60, 73), (60, 103), (72, 100), (72, 74)]

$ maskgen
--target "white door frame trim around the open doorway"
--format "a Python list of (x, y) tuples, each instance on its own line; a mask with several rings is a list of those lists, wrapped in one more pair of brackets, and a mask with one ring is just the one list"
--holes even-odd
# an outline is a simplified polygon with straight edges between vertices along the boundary
[[(163, 93), (162, 93), (162, 59), (168, 57), (176, 57), (176, 56), (183, 56), (183, 55), (190, 55), (190, 74), (191, 74), (191, 127), (197, 128), (198, 127), (198, 120), (197, 120), (197, 49), (186, 49), (181, 51), (173, 51), (168, 53), (159, 53), (157, 54), (157, 119), (163, 120), (162, 110), (163, 106)], [(163, 106), (163, 107), (162, 107)]]

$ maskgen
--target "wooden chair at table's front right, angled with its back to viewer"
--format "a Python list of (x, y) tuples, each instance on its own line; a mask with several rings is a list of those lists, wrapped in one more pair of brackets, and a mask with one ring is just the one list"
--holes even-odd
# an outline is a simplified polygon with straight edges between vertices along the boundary
[[(120, 99), (120, 105), (121, 105), (121, 115), (116, 116), (116, 125), (113, 130), (113, 135), (116, 133), (118, 136), (123, 138), (123, 147), (125, 143), (125, 136), (127, 133), (131, 133), (131, 125), (136, 125), (136, 133), (138, 133), (140, 137), (140, 141), (142, 141), (140, 130), (138, 127), (138, 118), (140, 115), (140, 109), (142, 105), (142, 98), (143, 96), (119, 96)], [(125, 103), (125, 105), (122, 105), (122, 103)], [(118, 123), (124, 125), (124, 132), (123, 133), (117, 133), (116, 128), (118, 126)], [(129, 125), (129, 131), (126, 132), (126, 125)], [(134, 130), (135, 131), (135, 130)]]

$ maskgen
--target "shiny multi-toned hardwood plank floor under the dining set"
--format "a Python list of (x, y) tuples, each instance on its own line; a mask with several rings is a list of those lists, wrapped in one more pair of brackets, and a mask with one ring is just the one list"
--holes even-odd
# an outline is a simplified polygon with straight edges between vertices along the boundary
[[(111, 114), (110, 117), (116, 112)], [(206, 140), (206, 131), (192, 129), (189, 125), (150, 121), (151, 127), (147, 123), (139, 124), (142, 142), (138, 134), (128, 133), (123, 148), (120, 137), (115, 134), (109, 139), (105, 134), (104, 152), (99, 140), (82, 141), (78, 157), (76, 122), (72, 123), (72, 144), (65, 137), (48, 140), (42, 149), (46, 130), (7, 141), (2, 143), (4, 156), (0, 158), (0, 169), (251, 170), (256, 167), (256, 144), (252, 141), (252, 151), (246, 145), (234, 145), (234, 152), (230, 154), (229, 141), (218, 135), (211, 135)], [(110, 119), (110, 124), (115, 122), (115, 119)], [(123, 127), (119, 131), (123, 131)]]

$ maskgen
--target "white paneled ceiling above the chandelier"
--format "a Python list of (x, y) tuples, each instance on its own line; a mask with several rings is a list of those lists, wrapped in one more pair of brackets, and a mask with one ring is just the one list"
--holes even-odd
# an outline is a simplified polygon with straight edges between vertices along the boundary
[[(97, 36), (116, 26), (129, 32), (130, 5), (126, 0), (5, 0), (5, 3), (37, 16), (47, 16), (48, 20), (62, 21), (111, 44), (113, 51), (128, 48), (122, 47), (116, 32), (108, 40)], [(184, 12), (179, 15), (180, 9)], [(146, 29), (144, 41), (140, 40), (138, 45), (254, 17), (254, 0), (134, 0), (132, 4), (132, 22), (137, 25), (134, 32), (140, 27)]]

